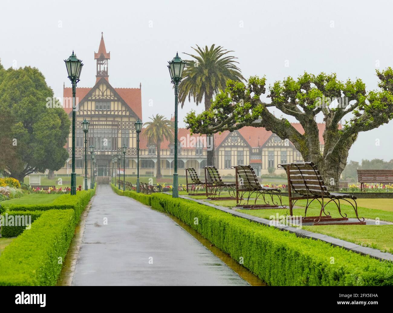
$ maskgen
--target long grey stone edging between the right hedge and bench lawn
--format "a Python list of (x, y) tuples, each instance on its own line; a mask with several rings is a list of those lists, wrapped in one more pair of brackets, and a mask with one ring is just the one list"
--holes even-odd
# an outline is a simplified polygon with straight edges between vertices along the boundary
[(290, 233), (295, 233), (296, 236), (298, 236), (298, 237), (311, 238), (314, 240), (325, 241), (326, 243), (330, 243), (333, 246), (339, 246), (339, 247), (344, 248), (345, 250), (353, 251), (353, 252), (362, 254), (364, 256), (371, 256), (371, 257), (374, 257), (375, 259), (380, 259), (380, 260), (393, 261), (393, 254), (388, 253), (388, 252), (381, 252), (378, 249), (360, 246), (359, 244), (350, 243), (349, 241), (341, 240), (341, 239), (334, 238), (334, 237), (331, 237), (328, 235), (323, 235), (320, 233), (309, 232), (308, 230), (298, 229), (293, 226), (280, 225), (278, 222), (275, 222), (275, 224), (270, 225), (271, 221), (268, 219), (263, 219), (261, 217), (255, 217), (253, 215), (248, 215), (245, 213), (241, 213), (241, 212), (229, 209), (228, 207), (217, 206), (217, 205), (212, 204), (210, 202), (205, 202), (203, 200), (189, 198), (187, 196), (179, 195), (179, 197), (183, 198), (183, 199), (187, 199), (187, 200), (192, 200), (192, 201), (198, 202), (200, 204), (204, 204), (206, 206), (214, 207), (215, 209), (218, 209), (220, 211), (224, 211), (226, 213), (230, 213), (231, 215), (242, 217), (244, 219), (252, 220), (253, 222), (257, 222), (259, 224), (273, 226), (275, 228), (278, 228), (279, 230), (285, 230)]

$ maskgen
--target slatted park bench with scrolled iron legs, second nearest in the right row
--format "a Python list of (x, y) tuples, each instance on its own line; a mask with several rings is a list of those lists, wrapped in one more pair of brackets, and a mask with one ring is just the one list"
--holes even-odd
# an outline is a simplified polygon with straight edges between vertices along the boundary
[[(255, 171), (250, 165), (237, 165), (233, 166), (236, 172), (236, 204), (237, 206), (243, 206), (243, 208), (250, 209), (284, 209), (286, 206), (281, 202), (281, 190), (272, 187), (264, 187), (259, 181), (255, 174)], [(280, 201), (280, 206), (278, 202), (274, 201), (273, 196), (277, 196)], [(253, 196), (253, 198), (252, 198)], [(272, 199), (270, 204), (266, 200), (266, 196)], [(262, 197), (265, 204), (257, 204), (259, 197)], [(242, 201), (247, 198), (247, 202), (242, 204)], [(254, 199), (254, 204), (249, 205), (250, 199)]]

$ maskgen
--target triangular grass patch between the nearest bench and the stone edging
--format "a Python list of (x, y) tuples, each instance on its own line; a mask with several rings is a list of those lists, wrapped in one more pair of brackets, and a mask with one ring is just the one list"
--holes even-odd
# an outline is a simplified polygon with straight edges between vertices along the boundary
[(321, 225), (303, 229), (393, 253), (393, 225)]

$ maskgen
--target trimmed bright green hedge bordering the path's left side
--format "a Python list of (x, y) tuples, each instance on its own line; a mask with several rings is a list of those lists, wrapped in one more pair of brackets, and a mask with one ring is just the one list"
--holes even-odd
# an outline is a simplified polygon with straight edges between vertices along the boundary
[[(18, 213), (40, 214), (40, 217), (1, 254), (0, 285), (55, 285), (62, 268), (60, 260), (64, 261), (75, 226), (94, 194), (95, 189), (77, 191), (76, 196), (64, 194), (52, 204), (56, 209), (37, 205), (33, 206), (38, 208), (34, 212), (20, 210)], [(70, 209), (61, 201), (67, 202)]]

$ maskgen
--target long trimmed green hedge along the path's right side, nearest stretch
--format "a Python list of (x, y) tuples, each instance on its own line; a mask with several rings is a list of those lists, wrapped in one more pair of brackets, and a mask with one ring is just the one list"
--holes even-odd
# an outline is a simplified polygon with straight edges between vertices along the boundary
[(269, 285), (393, 285), (392, 262), (166, 194), (152, 194), (151, 205), (178, 217), (233, 259), (242, 258), (244, 267)]

